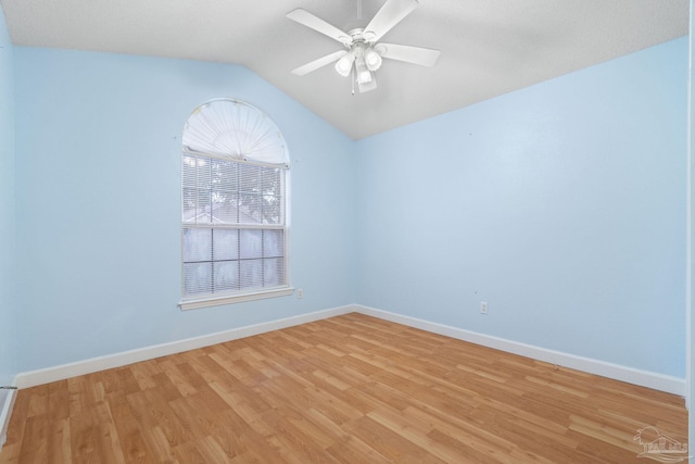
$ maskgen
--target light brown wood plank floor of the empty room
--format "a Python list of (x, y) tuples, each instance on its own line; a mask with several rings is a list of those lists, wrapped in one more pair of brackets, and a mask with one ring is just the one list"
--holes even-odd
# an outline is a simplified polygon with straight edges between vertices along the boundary
[(642, 463), (683, 399), (348, 314), (20, 390), (0, 463)]

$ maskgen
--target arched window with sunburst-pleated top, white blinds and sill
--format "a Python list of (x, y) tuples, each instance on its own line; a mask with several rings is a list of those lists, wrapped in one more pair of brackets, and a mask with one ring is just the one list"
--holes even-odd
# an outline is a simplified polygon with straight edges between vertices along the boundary
[(184, 128), (181, 309), (291, 294), (289, 156), (258, 109), (215, 99)]

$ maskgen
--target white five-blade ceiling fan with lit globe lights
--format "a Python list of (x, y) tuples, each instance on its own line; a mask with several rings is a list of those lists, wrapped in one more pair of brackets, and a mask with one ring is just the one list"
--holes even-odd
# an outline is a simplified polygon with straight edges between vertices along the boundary
[(353, 75), (354, 93), (355, 83), (359, 92), (377, 88), (375, 72), (381, 66), (383, 58), (420, 66), (433, 66), (441, 53), (439, 50), (379, 42), (379, 39), (393, 26), (415, 10), (417, 3), (417, 0), (387, 0), (366, 27), (351, 29), (348, 33), (301, 8), (289, 12), (287, 17), (290, 20), (319, 32), (344, 46), (343, 50), (292, 70), (292, 74), (303, 76), (336, 62), (338, 74), (343, 77)]

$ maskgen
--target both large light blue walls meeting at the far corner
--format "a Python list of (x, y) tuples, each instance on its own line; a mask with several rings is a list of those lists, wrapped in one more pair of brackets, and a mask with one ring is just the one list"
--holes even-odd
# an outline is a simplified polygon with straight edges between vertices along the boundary
[[(685, 38), (359, 142), (240, 66), (14, 57), (18, 371), (356, 302), (685, 375)], [(180, 133), (224, 96), (289, 142), (305, 298), (181, 312)]]

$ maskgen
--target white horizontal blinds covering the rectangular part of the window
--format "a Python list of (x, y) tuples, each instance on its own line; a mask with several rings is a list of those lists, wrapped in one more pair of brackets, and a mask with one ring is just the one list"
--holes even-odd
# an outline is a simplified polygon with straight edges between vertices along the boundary
[(184, 296), (287, 285), (285, 170), (184, 156)]

